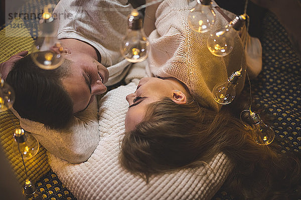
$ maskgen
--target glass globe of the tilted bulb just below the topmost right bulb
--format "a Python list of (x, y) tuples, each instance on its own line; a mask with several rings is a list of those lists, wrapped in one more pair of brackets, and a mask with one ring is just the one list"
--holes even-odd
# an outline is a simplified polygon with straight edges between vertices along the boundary
[(209, 35), (207, 47), (216, 56), (228, 55), (233, 49), (236, 34), (237, 30), (226, 25), (224, 28)]

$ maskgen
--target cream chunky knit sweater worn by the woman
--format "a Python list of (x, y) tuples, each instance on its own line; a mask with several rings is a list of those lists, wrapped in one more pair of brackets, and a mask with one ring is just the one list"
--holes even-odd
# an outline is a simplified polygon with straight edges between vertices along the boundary
[[(188, 13), (194, 5), (188, 5), (187, 0), (164, 0), (159, 5), (157, 29), (149, 35), (151, 48), (146, 71), (149, 76), (178, 78), (203, 106), (219, 110), (221, 105), (213, 99), (212, 89), (216, 83), (226, 81), (233, 71), (239, 70), (241, 63), (242, 68), (246, 68), (242, 40), (237, 34), (230, 54), (224, 57), (213, 55), (207, 48), (209, 32), (198, 33), (188, 25)], [(217, 6), (215, 2), (213, 6)], [(228, 23), (218, 10), (214, 8), (214, 11), (216, 21), (212, 31)], [(223, 11), (231, 19), (235, 16)], [(241, 30), (243, 36), (245, 32), (245, 28)], [(238, 93), (242, 90), (244, 77), (245, 73), (237, 85)]]

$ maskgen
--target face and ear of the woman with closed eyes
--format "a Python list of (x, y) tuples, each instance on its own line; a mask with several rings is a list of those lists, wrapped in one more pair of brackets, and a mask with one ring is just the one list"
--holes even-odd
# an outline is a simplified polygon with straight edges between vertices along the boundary
[[(181, 100), (185, 100), (185, 102), (182, 102), (186, 103), (186, 96), (181, 90), (185, 90), (184, 86), (174, 78), (142, 78), (136, 91), (126, 96), (129, 108), (125, 116), (125, 130), (130, 131), (134, 129), (143, 120), (147, 107), (152, 102), (159, 101), (164, 97), (170, 97), (173, 100), (181, 98)], [(184, 98), (183, 95), (185, 96)]]

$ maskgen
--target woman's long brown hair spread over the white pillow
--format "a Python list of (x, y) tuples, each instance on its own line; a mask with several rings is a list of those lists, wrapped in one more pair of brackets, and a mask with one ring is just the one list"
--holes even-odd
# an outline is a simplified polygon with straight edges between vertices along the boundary
[(228, 110), (169, 98), (150, 104), (145, 119), (124, 135), (122, 165), (148, 181), (153, 174), (200, 166), (224, 152), (234, 164), (225, 185), (238, 199), (300, 196), (301, 156), (279, 153), (276, 142), (258, 145)]

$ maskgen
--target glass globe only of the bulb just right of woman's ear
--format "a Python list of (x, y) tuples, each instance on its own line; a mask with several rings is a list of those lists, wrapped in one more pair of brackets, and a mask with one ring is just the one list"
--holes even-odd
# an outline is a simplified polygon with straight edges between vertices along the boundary
[(212, 93), (214, 100), (219, 104), (229, 104), (233, 101), (236, 95), (236, 84), (227, 81), (214, 86)]

